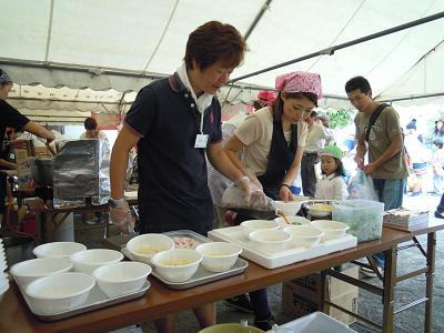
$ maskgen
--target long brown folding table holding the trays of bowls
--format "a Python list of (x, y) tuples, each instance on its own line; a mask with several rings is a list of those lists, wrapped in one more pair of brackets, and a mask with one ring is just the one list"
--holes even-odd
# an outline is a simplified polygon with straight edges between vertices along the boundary
[[(426, 275), (426, 295), (420, 301), (425, 303), (424, 330), (425, 332), (432, 332), (432, 289), (435, 269), (436, 231), (443, 229), (444, 222), (435, 220), (431, 221), (427, 225), (417, 226), (414, 231), (410, 232), (384, 228), (381, 240), (360, 243), (356, 248), (273, 270), (268, 270), (250, 262), (249, 268), (243, 274), (184, 291), (169, 290), (150, 276), (149, 280), (152, 286), (141, 299), (51, 323), (38, 320), (28, 310), (27, 304), (20, 295), (20, 291), (14, 282), (11, 281), (11, 287), (0, 303), (2, 314), (0, 316), (0, 332), (108, 332), (205, 303), (221, 301), (240, 293), (254, 291), (314, 272), (322, 271), (322, 285), (325, 285), (325, 276), (327, 274), (335, 274), (329, 270), (330, 268), (363, 256), (370, 258), (371, 254), (379, 252), (384, 252), (386, 256), (383, 287), (367, 286), (366, 289), (382, 296), (382, 332), (393, 332), (394, 314), (396, 311), (394, 304), (394, 289), (396, 283), (414, 276), (415, 273)], [(407, 241), (413, 241), (417, 246), (416, 236), (421, 234), (427, 235), (426, 250), (420, 246), (425, 256), (424, 268), (416, 270), (416, 272), (397, 276), (396, 258), (398, 245)], [(341, 279), (341, 274), (337, 278)], [(344, 281), (354, 282), (347, 281), (346, 278)], [(363, 287), (363, 285), (360, 286)]]

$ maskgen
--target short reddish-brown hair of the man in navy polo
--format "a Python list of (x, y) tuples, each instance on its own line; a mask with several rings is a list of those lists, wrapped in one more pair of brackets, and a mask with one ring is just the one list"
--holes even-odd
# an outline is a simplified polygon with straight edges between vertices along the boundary
[(190, 33), (183, 59), (188, 69), (193, 69), (193, 60), (200, 70), (218, 61), (235, 68), (243, 61), (245, 50), (245, 41), (233, 26), (210, 21)]

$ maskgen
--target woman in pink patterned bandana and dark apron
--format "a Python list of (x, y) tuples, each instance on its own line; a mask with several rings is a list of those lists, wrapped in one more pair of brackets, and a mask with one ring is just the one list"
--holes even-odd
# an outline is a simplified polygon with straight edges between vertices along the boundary
[[(287, 73), (276, 78), (275, 87), (279, 94), (273, 105), (249, 115), (224, 144), (224, 150), (240, 170), (254, 172), (269, 198), (291, 201), (290, 186), (297, 175), (307, 134), (304, 118), (322, 95), (321, 77), (309, 72)], [(242, 162), (238, 159), (241, 150)], [(250, 219), (238, 214), (236, 223)], [(250, 299), (255, 325), (270, 330), (274, 317), (266, 290), (251, 292)]]

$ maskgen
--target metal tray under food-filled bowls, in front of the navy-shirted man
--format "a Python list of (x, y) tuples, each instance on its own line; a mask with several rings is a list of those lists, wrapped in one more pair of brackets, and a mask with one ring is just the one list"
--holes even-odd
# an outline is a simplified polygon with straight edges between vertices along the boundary
[[(199, 242), (199, 244), (202, 243), (208, 243), (208, 242), (212, 242), (212, 240), (194, 232), (191, 230), (178, 230), (178, 231), (169, 231), (169, 232), (164, 232), (164, 235), (168, 236), (179, 236), (179, 238), (191, 238), (193, 240), (195, 240), (196, 242)], [(123, 255), (125, 255), (128, 259), (132, 260), (131, 258), (131, 253), (127, 250), (127, 246), (122, 248), (121, 252), (123, 253)], [(236, 274), (241, 274), (242, 272), (245, 271), (245, 269), (249, 266), (249, 262), (238, 258), (236, 262), (234, 263), (234, 265), (225, 271), (225, 272), (220, 272), (220, 273), (215, 273), (215, 272), (210, 272), (206, 271), (201, 264), (198, 268), (198, 271), (194, 273), (193, 276), (191, 276), (189, 280), (184, 281), (184, 282), (170, 282), (164, 280), (161, 275), (158, 274), (158, 272), (155, 271), (155, 268), (153, 268), (153, 271), (151, 273), (152, 276), (154, 276), (155, 279), (158, 279), (160, 282), (162, 282), (164, 285), (167, 285), (169, 289), (173, 289), (173, 290), (184, 290), (184, 289), (190, 289), (196, 285), (201, 285), (201, 284), (205, 284), (205, 283), (210, 283), (216, 280), (221, 280), (224, 278), (229, 278), (232, 275), (236, 275)]]

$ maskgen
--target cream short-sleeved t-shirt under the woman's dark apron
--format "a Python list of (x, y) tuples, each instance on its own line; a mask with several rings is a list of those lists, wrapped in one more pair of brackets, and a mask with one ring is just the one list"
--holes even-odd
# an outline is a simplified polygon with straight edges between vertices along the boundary
[[(304, 121), (297, 123), (297, 147), (305, 147), (307, 129), (307, 124)], [(250, 114), (235, 130), (234, 135), (245, 144), (242, 164), (252, 169), (256, 175), (264, 174), (273, 138), (271, 108), (266, 107)], [(290, 141), (290, 132), (285, 133), (285, 140)]]

